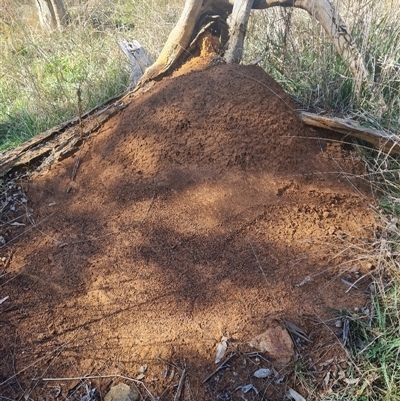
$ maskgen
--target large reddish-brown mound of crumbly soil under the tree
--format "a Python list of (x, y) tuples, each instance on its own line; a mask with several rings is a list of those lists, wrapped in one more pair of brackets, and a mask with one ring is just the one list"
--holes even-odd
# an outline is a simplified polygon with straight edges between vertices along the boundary
[[(309, 396), (297, 364), (321, 394), (346, 368), (332, 309), (368, 301), (367, 279), (342, 279), (368, 273), (375, 221), (355, 153), (295, 108), (257, 66), (182, 70), (24, 183), (35, 225), (1, 249), (0, 393), (80, 399), (78, 380), (35, 378), (92, 375), (103, 397), (146, 364), (159, 400), (240, 400), (249, 383), (248, 400), (281, 400)], [(294, 336), (288, 366), (249, 353), (285, 319), (311, 340)], [(236, 355), (202, 383), (222, 336)]]

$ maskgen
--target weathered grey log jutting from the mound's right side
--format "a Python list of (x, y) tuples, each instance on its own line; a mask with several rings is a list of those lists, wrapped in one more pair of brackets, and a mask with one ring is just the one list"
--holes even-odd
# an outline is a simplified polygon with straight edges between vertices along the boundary
[(304, 111), (299, 111), (298, 115), (304, 124), (363, 139), (372, 144), (376, 149), (388, 154), (400, 154), (400, 136), (398, 135), (389, 134), (374, 128), (363, 127), (350, 119), (319, 116)]

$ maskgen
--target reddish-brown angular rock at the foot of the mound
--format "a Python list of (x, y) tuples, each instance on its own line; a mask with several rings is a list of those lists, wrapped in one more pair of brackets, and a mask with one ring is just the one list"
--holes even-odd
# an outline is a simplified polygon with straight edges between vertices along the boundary
[(294, 356), (294, 345), (287, 330), (280, 326), (271, 327), (254, 337), (249, 345), (267, 353), (279, 364), (287, 364)]

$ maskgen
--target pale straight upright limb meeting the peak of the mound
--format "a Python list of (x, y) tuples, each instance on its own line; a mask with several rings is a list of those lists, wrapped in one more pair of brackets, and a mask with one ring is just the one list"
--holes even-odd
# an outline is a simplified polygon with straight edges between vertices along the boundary
[(233, 4), (232, 14), (228, 18), (228, 50), (225, 52), (225, 59), (228, 63), (239, 64), (242, 60), (247, 21), (252, 6), (253, 0), (235, 0)]

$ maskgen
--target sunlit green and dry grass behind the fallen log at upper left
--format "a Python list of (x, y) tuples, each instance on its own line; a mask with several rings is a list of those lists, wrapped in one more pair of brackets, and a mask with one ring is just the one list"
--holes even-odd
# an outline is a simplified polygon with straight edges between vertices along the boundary
[[(71, 23), (51, 34), (38, 26), (34, 2), (0, 8), (0, 151), (124, 92), (128, 60), (118, 41), (139, 40), (155, 58), (181, 4), (159, 1), (65, 1)], [(157, 27), (157, 35), (154, 35)]]

